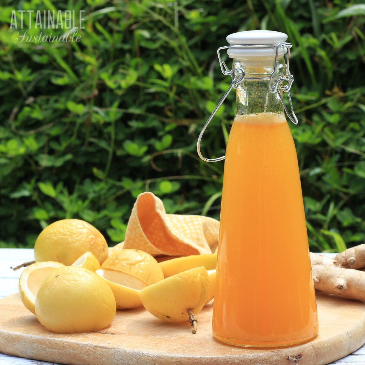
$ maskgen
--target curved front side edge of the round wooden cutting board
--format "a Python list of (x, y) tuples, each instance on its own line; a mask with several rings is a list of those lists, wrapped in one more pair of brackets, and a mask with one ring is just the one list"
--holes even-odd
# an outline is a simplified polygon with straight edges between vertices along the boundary
[[(18, 293), (13, 294), (12, 296), (18, 296), (18, 299), (20, 300)], [(5, 298), (9, 297), (10, 296)], [(0, 299), (0, 302), (2, 299)], [(326, 341), (322, 341), (323, 343), (307, 342), (293, 347), (282, 347), (277, 350), (271, 349), (269, 353), (238, 354), (235, 355), (235, 358), (233, 359), (232, 355), (194, 357), (188, 355), (164, 354), (164, 356), (161, 356), (161, 354), (153, 352), (127, 350), (122, 347), (102, 345), (91, 345), (92, 347), (95, 347), (95, 351), (90, 351), (90, 345), (87, 343), (57, 338), (45, 338), (41, 336), (29, 338), (29, 335), (3, 331), (0, 327), (0, 351), (13, 356), (71, 365), (114, 365), (116, 363), (128, 365), (220, 365), (229, 364), (233, 361), (238, 365), (325, 365), (347, 356), (364, 345), (364, 333), (365, 311), (362, 322), (359, 322), (358, 325), (351, 330), (345, 330), (343, 333), (334, 337), (334, 339), (338, 339), (337, 343), (341, 345), (340, 349), (337, 349), (337, 351), (339, 351), (337, 353), (334, 351), (333, 344), (326, 346)], [(39, 344), (40, 340), (43, 342), (41, 345)], [(24, 349), (24, 342), (27, 342), (28, 350)], [(57, 349), (54, 347), (55, 342), (57, 342)], [(16, 344), (16, 351), (7, 350), (11, 345), (14, 347), (14, 344)], [(77, 347), (77, 359), (74, 358), (74, 353), (70, 352), (70, 346)], [(44, 355), (40, 356), (40, 352)], [(90, 357), (86, 356), (87, 353), (91, 353)]]

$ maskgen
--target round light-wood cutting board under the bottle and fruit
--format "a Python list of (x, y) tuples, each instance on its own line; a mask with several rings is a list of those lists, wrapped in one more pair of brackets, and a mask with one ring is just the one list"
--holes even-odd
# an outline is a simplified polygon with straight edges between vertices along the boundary
[(321, 365), (365, 342), (365, 304), (317, 293), (319, 335), (295, 347), (249, 349), (224, 345), (211, 331), (212, 304), (187, 323), (160, 321), (143, 308), (117, 311), (103, 331), (56, 334), (46, 330), (14, 294), (0, 300), (0, 352), (64, 364)]

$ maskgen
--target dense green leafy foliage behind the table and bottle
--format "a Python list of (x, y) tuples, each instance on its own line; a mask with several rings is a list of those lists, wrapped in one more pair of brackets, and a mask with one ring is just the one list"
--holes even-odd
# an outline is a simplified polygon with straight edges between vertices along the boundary
[[(300, 124), (292, 132), (311, 250), (364, 242), (364, 4), (1, 4), (0, 247), (32, 247), (42, 227), (71, 217), (94, 224), (109, 244), (120, 242), (146, 190), (169, 213), (219, 218), (223, 162), (200, 161), (196, 140), (230, 83), (216, 49), (228, 34), (252, 29), (286, 32), (294, 45)], [(16, 43), (13, 9), (84, 10), (81, 41)], [(65, 32), (33, 27), (29, 35), (41, 31)], [(234, 103), (232, 93), (205, 134), (205, 155), (224, 153)]]

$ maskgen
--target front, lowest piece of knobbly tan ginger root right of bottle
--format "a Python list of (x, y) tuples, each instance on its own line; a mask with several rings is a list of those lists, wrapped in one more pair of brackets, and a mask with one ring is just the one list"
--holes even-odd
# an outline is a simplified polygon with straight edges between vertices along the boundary
[(333, 265), (313, 265), (312, 273), (317, 290), (365, 301), (365, 272)]

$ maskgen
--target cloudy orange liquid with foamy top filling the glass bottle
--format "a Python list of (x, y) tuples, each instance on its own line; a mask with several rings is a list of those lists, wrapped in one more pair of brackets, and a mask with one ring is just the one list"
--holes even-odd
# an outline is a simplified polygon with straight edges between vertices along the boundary
[(284, 114), (237, 115), (224, 162), (213, 334), (285, 346), (318, 333), (295, 145)]

